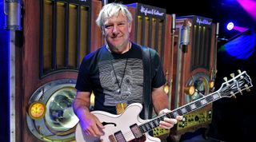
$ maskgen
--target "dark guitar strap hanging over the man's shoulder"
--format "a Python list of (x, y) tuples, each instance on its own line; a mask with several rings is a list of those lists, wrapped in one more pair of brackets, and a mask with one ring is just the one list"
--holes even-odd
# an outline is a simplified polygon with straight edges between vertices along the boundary
[(142, 61), (143, 61), (143, 70), (144, 70), (144, 84), (143, 84), (143, 108), (144, 112), (142, 112), (144, 119), (151, 119), (152, 118), (152, 111), (153, 111), (153, 104), (152, 104), (152, 97), (151, 97), (151, 77), (152, 77), (152, 70), (151, 70), (151, 54), (150, 48), (142, 46)]

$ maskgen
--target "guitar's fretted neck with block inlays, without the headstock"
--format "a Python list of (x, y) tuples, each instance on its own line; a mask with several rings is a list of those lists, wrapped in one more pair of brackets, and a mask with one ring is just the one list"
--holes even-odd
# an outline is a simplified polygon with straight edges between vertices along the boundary
[(209, 95), (201, 97), (196, 101), (192, 101), (189, 104), (176, 108), (172, 112), (157, 116), (154, 119), (147, 121), (145, 124), (139, 125), (138, 128), (141, 130), (142, 133), (150, 132), (151, 130), (159, 126), (159, 122), (163, 120), (164, 117), (176, 118), (176, 116), (183, 116), (189, 112), (197, 110), (198, 108), (202, 108), (213, 101), (217, 101), (220, 98), (221, 96), (218, 91), (210, 93)]

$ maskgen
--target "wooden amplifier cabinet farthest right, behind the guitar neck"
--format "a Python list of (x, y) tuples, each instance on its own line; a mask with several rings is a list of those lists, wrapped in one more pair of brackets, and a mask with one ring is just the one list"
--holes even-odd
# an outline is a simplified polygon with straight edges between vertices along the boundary
[[(214, 91), (215, 34), (215, 24), (210, 18), (192, 15), (176, 19), (171, 109), (196, 101)], [(211, 105), (206, 105), (193, 114), (185, 115), (186, 123), (177, 124), (170, 133), (182, 134), (207, 127), (211, 122), (211, 108)]]

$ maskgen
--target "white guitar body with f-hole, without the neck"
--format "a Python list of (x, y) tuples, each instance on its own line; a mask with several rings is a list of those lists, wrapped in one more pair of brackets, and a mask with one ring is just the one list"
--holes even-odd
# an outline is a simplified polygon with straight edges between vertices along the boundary
[[(134, 103), (127, 106), (126, 110), (120, 115), (110, 114), (109, 112), (94, 111), (92, 112), (104, 125), (104, 136), (96, 138), (94, 136), (86, 136), (82, 132), (80, 124), (77, 125), (75, 132), (75, 139), (77, 142), (111, 142), (111, 141), (122, 141), (122, 140), (110, 140), (111, 136), (114, 136), (117, 132), (124, 136), (126, 141), (140, 141), (136, 140), (133, 132), (130, 130), (130, 126), (134, 124), (144, 124), (147, 120), (142, 120), (139, 117), (139, 113), (142, 111), (142, 105)], [(147, 132), (145, 133), (147, 142), (160, 142), (161, 140), (150, 136)]]

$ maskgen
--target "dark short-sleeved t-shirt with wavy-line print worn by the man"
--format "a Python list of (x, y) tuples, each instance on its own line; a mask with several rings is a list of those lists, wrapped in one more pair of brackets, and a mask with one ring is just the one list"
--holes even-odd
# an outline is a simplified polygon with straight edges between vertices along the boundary
[[(152, 88), (158, 88), (166, 83), (158, 53), (151, 63)], [(143, 77), (141, 46), (132, 43), (128, 52), (118, 54), (104, 45), (83, 58), (75, 88), (94, 93), (94, 110), (116, 114), (118, 103), (143, 104)]]

